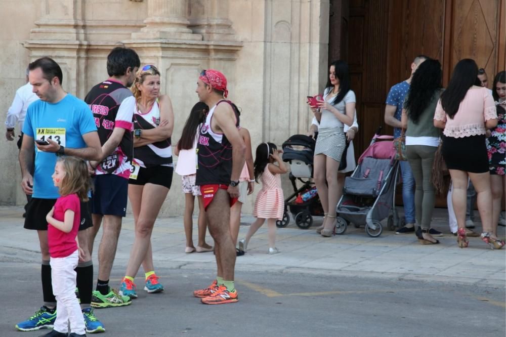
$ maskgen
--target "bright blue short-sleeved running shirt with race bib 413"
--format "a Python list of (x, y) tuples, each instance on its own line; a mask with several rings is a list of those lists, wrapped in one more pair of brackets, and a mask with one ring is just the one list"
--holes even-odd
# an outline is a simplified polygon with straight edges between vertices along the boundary
[[(67, 94), (58, 103), (35, 101), (26, 112), (23, 133), (34, 139), (50, 138), (62, 146), (86, 147), (82, 135), (97, 131), (90, 107)], [(51, 176), (55, 171), (56, 154), (38, 151), (35, 147), (33, 197), (56, 199), (60, 196)]]

